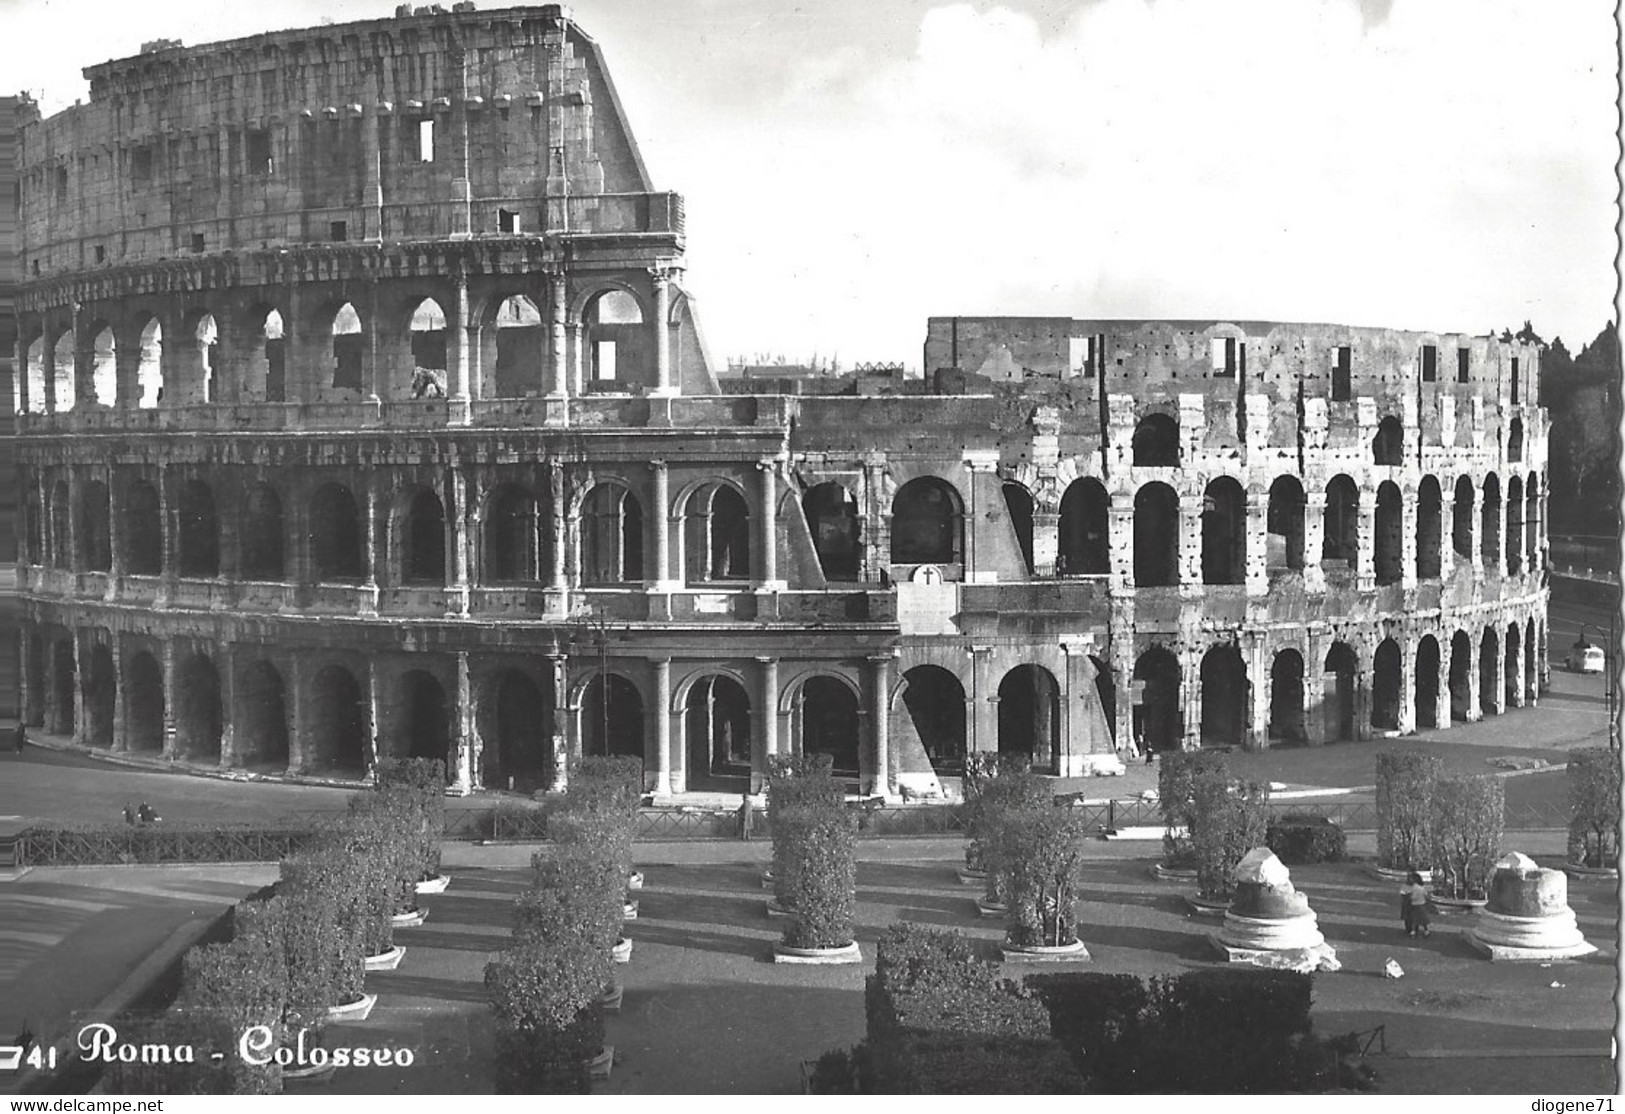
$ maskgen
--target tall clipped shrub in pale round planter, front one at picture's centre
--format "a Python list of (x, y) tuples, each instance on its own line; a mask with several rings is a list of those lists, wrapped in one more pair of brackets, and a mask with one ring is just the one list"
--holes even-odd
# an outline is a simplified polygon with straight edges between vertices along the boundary
[[(838, 948), (853, 940), (856, 823), (843, 809), (785, 809), (774, 825), (774, 880), (796, 916), (785, 927), (795, 948)], [(783, 849), (782, 856), (777, 854)], [(782, 867), (780, 867), (782, 862)]]

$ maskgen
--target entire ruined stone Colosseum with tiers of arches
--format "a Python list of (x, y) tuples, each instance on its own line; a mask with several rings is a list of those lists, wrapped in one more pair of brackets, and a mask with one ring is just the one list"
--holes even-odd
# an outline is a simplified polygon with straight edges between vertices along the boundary
[[(462, 791), (644, 758), (1318, 745), (1534, 703), (1539, 349), (941, 317), (923, 373), (718, 375), (600, 47), (401, 8), (20, 110), (23, 713)], [(681, 799), (681, 797), (679, 797)]]

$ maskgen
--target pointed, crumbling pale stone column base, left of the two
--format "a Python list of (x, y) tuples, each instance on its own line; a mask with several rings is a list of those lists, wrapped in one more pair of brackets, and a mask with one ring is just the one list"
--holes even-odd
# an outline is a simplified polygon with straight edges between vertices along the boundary
[(1237, 864), (1235, 898), (1224, 929), (1209, 937), (1230, 963), (1336, 971), (1336, 952), (1316, 924), (1310, 901), (1268, 848), (1254, 848)]

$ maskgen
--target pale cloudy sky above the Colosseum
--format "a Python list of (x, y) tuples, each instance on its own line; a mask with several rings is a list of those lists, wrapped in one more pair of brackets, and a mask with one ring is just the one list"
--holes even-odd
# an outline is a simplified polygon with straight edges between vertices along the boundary
[[(447, 6), (450, 6), (447, 3)], [(481, 8), (499, 6), (481, 0)], [(0, 0), (0, 88), (393, 0)], [(718, 361), (926, 317), (1614, 317), (1610, 0), (583, 0)]]

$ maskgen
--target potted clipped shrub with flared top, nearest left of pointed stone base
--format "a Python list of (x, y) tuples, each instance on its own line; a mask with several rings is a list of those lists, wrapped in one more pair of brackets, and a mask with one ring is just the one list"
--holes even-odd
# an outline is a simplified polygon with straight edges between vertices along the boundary
[(1006, 877), (1006, 939), (1020, 947), (1060, 947), (1077, 939), (1077, 890), (1084, 866), (1081, 815), (1050, 805), (1006, 812), (991, 831)]

